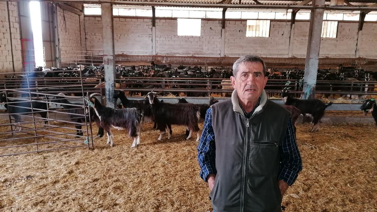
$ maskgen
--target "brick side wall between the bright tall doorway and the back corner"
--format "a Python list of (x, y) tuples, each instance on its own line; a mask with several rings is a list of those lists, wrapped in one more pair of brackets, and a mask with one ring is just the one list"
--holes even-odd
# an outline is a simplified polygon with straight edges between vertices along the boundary
[[(73, 64), (76, 60), (76, 52), (82, 55), (86, 51), (84, 39), (84, 20), (83, 16), (69, 12), (58, 7), (58, 34), (61, 64)], [(83, 57), (78, 56), (78, 60)]]

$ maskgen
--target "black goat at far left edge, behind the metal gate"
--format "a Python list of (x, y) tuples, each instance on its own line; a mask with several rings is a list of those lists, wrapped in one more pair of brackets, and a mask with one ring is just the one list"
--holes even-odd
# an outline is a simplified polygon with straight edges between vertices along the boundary
[[(8, 113), (11, 114), (11, 116), (14, 118), (15, 121), (15, 131), (21, 131), (21, 124), (20, 126), (17, 125), (17, 123), (21, 123), (21, 117), (22, 115), (27, 115), (32, 113), (32, 109), (34, 113), (40, 114), (42, 118), (44, 118), (44, 124), (47, 124), (47, 104), (39, 101), (31, 101), (27, 102), (28, 100), (9, 100), (8, 104), (5, 104), (5, 108), (8, 110)], [(5, 91), (2, 92), (0, 96), (0, 103), (7, 102)], [(40, 111), (38, 109), (42, 109), (45, 111)]]

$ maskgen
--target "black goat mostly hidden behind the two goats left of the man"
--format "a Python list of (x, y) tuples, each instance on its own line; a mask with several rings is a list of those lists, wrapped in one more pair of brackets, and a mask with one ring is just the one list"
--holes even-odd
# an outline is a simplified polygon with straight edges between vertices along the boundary
[[(151, 106), (149, 104), (144, 104), (144, 100), (130, 100), (126, 97), (126, 94), (124, 93), (124, 91), (115, 91), (114, 92), (114, 98), (115, 98), (115, 101), (119, 98), (120, 101), (122, 102), (124, 108), (137, 108), (137, 109), (143, 111), (143, 115), (144, 115), (143, 121), (153, 121), (154, 120)], [(147, 118), (147, 120), (146, 120), (146, 118)], [(168, 127), (169, 127), (170, 134), (172, 134), (173, 133), (172, 126), (169, 124)], [(156, 121), (155, 121), (155, 125), (153, 126), (153, 128), (157, 128)]]

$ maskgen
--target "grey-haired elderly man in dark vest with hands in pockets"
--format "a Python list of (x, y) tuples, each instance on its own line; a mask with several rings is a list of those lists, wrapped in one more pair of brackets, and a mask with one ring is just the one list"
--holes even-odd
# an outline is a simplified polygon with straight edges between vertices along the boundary
[(280, 211), (302, 170), (292, 118), (267, 100), (265, 74), (260, 57), (240, 57), (231, 98), (207, 110), (198, 161), (216, 212)]

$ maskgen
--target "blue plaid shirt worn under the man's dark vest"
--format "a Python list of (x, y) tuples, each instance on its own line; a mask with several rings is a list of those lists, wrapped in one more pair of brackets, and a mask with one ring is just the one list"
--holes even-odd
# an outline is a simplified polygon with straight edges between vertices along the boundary
[[(253, 109), (253, 111), (255, 109), (256, 107)], [(302, 170), (301, 156), (295, 137), (291, 117), (288, 121), (287, 132), (285, 133), (284, 140), (279, 146), (279, 179), (285, 181), (290, 186), (294, 183), (294, 181), (296, 181), (299, 172)], [(202, 137), (198, 145), (198, 162), (201, 169), (200, 176), (204, 181), (207, 181), (209, 174), (217, 173), (215, 166), (215, 154), (216, 146), (215, 133), (212, 128), (212, 109), (209, 108), (205, 114)]]

